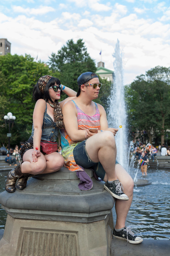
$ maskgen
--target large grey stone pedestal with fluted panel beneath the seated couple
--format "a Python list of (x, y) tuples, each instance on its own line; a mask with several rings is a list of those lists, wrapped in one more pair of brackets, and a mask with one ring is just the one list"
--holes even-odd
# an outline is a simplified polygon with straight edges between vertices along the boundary
[(67, 168), (31, 178), (24, 190), (0, 194), (8, 213), (0, 241), (3, 256), (109, 256), (114, 198), (94, 179), (81, 191)]

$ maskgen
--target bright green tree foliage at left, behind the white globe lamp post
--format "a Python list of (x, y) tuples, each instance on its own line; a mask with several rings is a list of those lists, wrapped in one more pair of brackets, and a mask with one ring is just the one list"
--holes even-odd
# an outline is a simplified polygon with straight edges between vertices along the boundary
[(7, 54), (0, 56), (0, 143), (7, 144), (6, 128), (3, 116), (12, 112), (16, 116), (12, 128), (11, 143), (19, 144), (27, 140), (32, 128), (32, 115), (35, 102), (32, 91), (40, 76), (50, 74), (49, 67), (35, 62), (30, 55), (18, 56)]

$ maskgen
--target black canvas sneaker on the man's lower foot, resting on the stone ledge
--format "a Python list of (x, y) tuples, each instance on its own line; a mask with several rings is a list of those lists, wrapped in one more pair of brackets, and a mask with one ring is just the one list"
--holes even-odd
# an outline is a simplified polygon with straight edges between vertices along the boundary
[(113, 230), (113, 237), (124, 239), (131, 244), (139, 244), (143, 241), (141, 237), (135, 236), (131, 227), (124, 227), (120, 231)]

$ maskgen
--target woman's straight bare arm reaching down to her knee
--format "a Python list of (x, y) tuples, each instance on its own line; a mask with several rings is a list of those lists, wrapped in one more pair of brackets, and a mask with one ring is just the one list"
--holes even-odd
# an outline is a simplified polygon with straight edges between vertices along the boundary
[[(42, 135), (42, 125), (44, 119), (44, 112), (46, 110), (46, 102), (43, 99), (37, 100), (34, 112), (33, 112), (33, 125), (34, 125), (34, 137), (33, 137), (33, 145), (34, 145), (34, 153), (33, 153), (33, 161), (37, 161), (37, 157), (40, 156), (40, 141)], [(38, 152), (36, 153), (36, 147), (38, 147)]]

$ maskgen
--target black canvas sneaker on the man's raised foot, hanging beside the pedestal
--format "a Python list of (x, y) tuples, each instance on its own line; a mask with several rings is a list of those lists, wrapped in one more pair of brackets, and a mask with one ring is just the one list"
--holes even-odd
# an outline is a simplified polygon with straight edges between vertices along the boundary
[(129, 197), (123, 193), (123, 186), (119, 180), (104, 184), (104, 188), (115, 198), (121, 200), (129, 200)]

